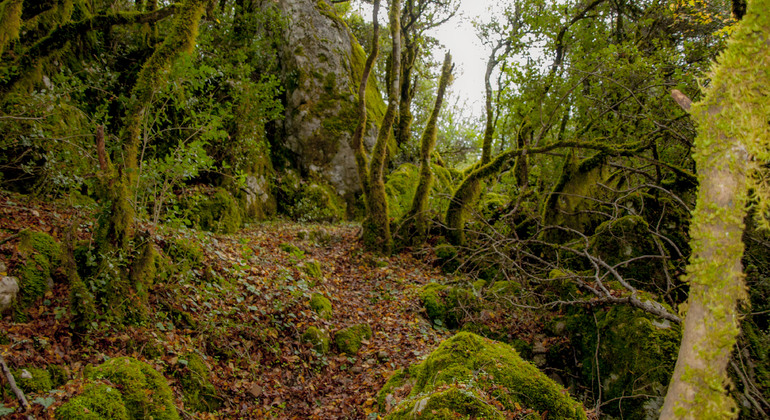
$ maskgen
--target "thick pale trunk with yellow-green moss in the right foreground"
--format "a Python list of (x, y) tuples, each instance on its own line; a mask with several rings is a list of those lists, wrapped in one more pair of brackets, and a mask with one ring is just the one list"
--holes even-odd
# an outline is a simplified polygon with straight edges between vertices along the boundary
[[(727, 50), (714, 65), (704, 99), (691, 113), (699, 129), (695, 161), (700, 189), (690, 227), (687, 268), (690, 296), (682, 345), (662, 419), (714, 419), (737, 415), (727, 395), (727, 364), (739, 332), (738, 303), (745, 299), (741, 268), (749, 156), (767, 161), (770, 132), (770, 0), (750, 1)], [(678, 92), (686, 108), (689, 100)], [(768, 191), (753, 186), (761, 204)]]

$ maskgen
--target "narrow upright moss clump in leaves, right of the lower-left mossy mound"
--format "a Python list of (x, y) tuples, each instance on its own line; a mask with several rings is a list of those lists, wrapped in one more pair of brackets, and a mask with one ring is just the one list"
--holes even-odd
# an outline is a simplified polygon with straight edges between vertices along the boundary
[(182, 387), (185, 408), (196, 412), (216, 411), (221, 402), (217, 389), (209, 380), (211, 372), (206, 362), (195, 353), (189, 353), (183, 359), (187, 365), (176, 376)]

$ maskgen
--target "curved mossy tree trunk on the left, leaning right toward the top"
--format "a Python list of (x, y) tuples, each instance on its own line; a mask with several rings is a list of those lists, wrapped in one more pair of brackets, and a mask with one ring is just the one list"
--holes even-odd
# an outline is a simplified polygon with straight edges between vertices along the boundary
[[(151, 241), (135, 234), (136, 214), (131, 204), (139, 176), (144, 116), (153, 93), (161, 87), (174, 60), (193, 50), (205, 5), (206, 0), (188, 0), (180, 6), (171, 32), (137, 76), (126, 113), (122, 165), (117, 171), (109, 162), (102, 168), (106, 220), (98, 232), (97, 246), (102, 256), (99, 271), (110, 273), (110, 282), (101, 286), (103, 290), (98, 293), (104, 297), (103, 301), (117, 321), (125, 320), (129, 314), (142, 318), (147, 288), (152, 281), (148, 276), (154, 266)], [(131, 249), (132, 245), (136, 249)], [(132, 265), (127, 259), (133, 254), (136, 259)]]

